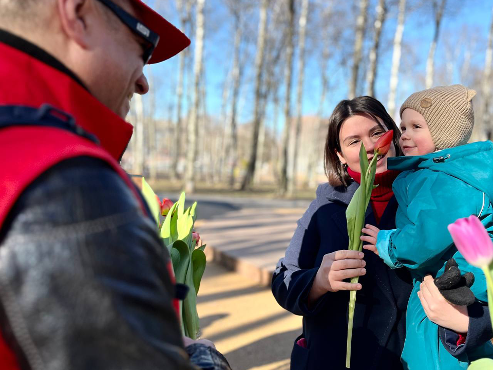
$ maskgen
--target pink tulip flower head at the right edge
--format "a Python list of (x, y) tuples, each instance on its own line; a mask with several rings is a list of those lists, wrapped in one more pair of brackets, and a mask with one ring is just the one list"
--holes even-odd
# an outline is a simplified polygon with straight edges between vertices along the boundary
[(483, 268), (493, 260), (493, 242), (478, 217), (459, 218), (448, 226), (448, 231), (471, 265)]

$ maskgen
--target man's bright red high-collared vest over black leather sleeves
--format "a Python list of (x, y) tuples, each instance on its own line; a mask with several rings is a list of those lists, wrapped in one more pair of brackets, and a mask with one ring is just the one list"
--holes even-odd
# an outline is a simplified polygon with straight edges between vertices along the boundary
[[(66, 112), (100, 145), (55, 127), (15, 125), (0, 128), (0, 229), (23, 191), (63, 160), (89, 156), (108, 163), (147, 213), (138, 189), (118, 163), (133, 127), (96, 100), (79, 83), (27, 53), (0, 43), (0, 106), (39, 108), (49, 104)], [(0, 332), (0, 370), (19, 369)]]

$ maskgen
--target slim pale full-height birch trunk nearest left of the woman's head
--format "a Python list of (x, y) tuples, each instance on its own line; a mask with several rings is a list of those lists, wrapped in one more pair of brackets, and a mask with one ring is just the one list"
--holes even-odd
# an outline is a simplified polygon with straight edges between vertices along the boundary
[(307, 19), (308, 19), (308, 0), (302, 0), (301, 13), (299, 15), (299, 36), (298, 36), (298, 86), (297, 86), (297, 98), (296, 98), (296, 130), (294, 132), (294, 147), (292, 163), (292, 176), (288, 180), (288, 196), (294, 194), (296, 186), (296, 172), (298, 167), (298, 146), (299, 135), (301, 131), (301, 110), (303, 107), (303, 80), (305, 77), (305, 38), (307, 31)]

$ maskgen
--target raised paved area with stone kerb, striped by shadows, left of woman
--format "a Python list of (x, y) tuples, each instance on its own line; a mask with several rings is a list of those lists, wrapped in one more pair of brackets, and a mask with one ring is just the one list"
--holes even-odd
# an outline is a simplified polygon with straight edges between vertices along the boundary
[[(309, 202), (305, 202), (308, 206)], [(283, 257), (306, 207), (251, 207), (197, 220), (196, 229), (207, 261), (237, 271), (253, 282), (270, 286), (272, 272)], [(200, 205), (199, 205), (200, 207)]]

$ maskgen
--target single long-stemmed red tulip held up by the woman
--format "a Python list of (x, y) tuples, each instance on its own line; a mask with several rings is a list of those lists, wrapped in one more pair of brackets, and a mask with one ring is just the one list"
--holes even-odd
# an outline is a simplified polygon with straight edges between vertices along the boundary
[[(373, 157), (368, 163), (365, 145), (361, 143), (359, 149), (359, 167), (361, 168), (361, 184), (354, 193), (349, 206), (346, 210), (346, 219), (348, 221), (349, 249), (362, 251), (363, 241), (359, 238), (362, 235), (361, 230), (365, 223), (365, 213), (370, 202), (371, 191), (376, 188), (373, 185), (375, 181), (376, 161), (378, 156), (387, 154), (392, 143), (394, 133), (392, 130), (387, 131), (373, 147)], [(352, 278), (351, 283), (357, 283), (358, 277)], [(356, 303), (356, 291), (349, 293), (348, 308), (348, 342), (346, 347), (346, 367), (351, 363), (351, 339), (353, 334), (354, 305)]]

